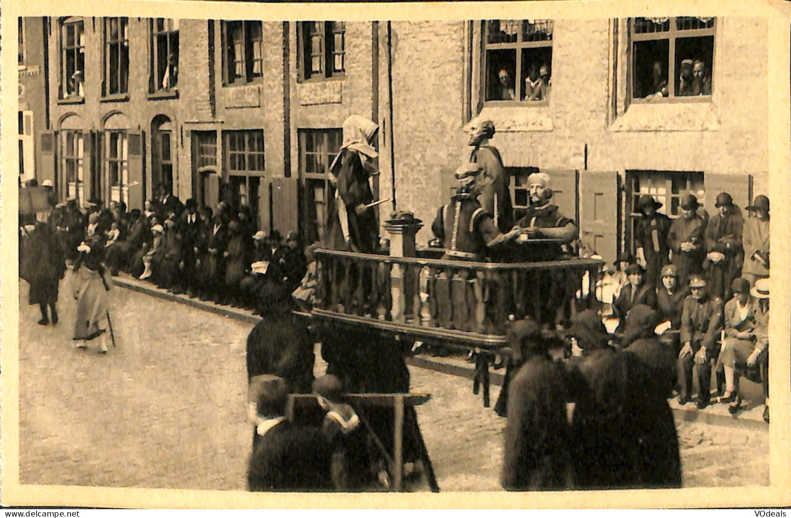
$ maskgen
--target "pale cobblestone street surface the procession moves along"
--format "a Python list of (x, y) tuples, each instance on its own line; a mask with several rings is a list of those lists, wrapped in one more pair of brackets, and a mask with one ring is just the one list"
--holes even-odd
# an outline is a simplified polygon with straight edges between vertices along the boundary
[[(68, 281), (55, 327), (36, 325), (20, 283), (21, 483), (244, 490), (252, 325), (118, 288), (118, 346), (103, 357), (72, 346)], [(433, 396), (418, 416), (441, 490), (498, 490), (505, 420), (469, 380), (415, 367), (411, 376), (412, 391)], [(766, 432), (683, 422), (679, 439), (685, 486), (769, 482)]]

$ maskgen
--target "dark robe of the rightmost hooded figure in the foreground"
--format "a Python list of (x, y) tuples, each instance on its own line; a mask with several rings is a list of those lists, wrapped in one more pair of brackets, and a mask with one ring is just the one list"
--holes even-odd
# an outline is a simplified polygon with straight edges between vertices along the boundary
[(596, 350), (567, 362), (576, 489), (681, 486), (676, 424), (660, 378), (637, 354)]

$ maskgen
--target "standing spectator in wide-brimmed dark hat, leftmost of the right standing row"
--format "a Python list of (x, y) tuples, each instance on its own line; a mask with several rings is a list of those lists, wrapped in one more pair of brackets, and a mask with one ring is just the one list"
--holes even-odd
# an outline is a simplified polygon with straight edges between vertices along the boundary
[(645, 283), (654, 289), (661, 285), (660, 272), (669, 263), (670, 218), (657, 212), (661, 206), (651, 195), (640, 196), (638, 210), (642, 217), (634, 229), (638, 263), (645, 268)]

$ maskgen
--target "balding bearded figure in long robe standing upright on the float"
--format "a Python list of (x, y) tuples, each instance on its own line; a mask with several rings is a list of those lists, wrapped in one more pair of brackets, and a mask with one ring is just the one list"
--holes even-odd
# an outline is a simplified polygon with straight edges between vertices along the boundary
[(464, 129), (470, 135), (469, 162), (475, 164), (478, 171), (475, 179), (479, 191), (478, 201), (500, 232), (507, 233), (513, 226), (513, 207), (509, 177), (502, 166), (500, 152), (489, 143), (489, 139), (494, 136), (494, 123), (473, 119)]

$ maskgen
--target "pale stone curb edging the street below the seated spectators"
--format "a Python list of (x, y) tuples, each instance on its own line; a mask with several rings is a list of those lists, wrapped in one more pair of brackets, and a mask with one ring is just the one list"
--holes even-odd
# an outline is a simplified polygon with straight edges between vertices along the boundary
[[(149, 284), (148, 282), (139, 281), (137, 279), (129, 278), (124, 275), (123, 277), (113, 278), (115, 285), (119, 287), (131, 289), (139, 293), (146, 293), (153, 297), (160, 297), (162, 299), (199, 308), (207, 312), (225, 316), (232, 319), (241, 320), (248, 323), (258, 323), (259, 316), (253, 315), (251, 311), (242, 308), (231, 308), (228, 306), (221, 306), (214, 304), (210, 301), (201, 301), (197, 298), (187, 297), (185, 294), (176, 295), (170, 293), (165, 289), (157, 288), (157, 286)], [(430, 369), (437, 372), (443, 372), (452, 376), (460, 376), (472, 380), (474, 366), (463, 360), (445, 357), (430, 357), (426, 355), (418, 355), (414, 357), (407, 357), (407, 365), (413, 365), (421, 369)], [(490, 380), (492, 384), (501, 386), (503, 380), (502, 371), (490, 370)], [(470, 386), (470, 391), (472, 387)], [(475, 396), (480, 398), (481, 396)], [(483, 399), (481, 399), (483, 404)], [(753, 429), (769, 431), (769, 425), (763, 421), (763, 405), (758, 405), (748, 410), (744, 410), (737, 416), (732, 416), (728, 413), (727, 406), (713, 404), (704, 410), (698, 410), (692, 405), (679, 406), (676, 399), (672, 399), (670, 406), (673, 410), (673, 415), (679, 421), (687, 422), (700, 422), (707, 425), (720, 425), (732, 426), (741, 429)]]

